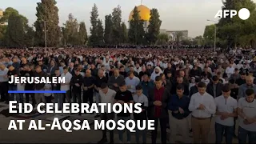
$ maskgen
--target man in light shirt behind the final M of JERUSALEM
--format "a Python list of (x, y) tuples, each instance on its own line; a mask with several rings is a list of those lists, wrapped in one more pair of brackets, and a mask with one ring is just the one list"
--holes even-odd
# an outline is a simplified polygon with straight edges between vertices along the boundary
[[(72, 74), (70, 74), (69, 72), (69, 68), (67, 66), (64, 66), (63, 67), (63, 74), (61, 75), (61, 78), (65, 77), (65, 83), (62, 83), (61, 84), (61, 90), (65, 90), (66, 91), (66, 99), (67, 99), (67, 102), (71, 102), (70, 100), (70, 80), (72, 78)], [(64, 99), (65, 99), (64, 97)], [(64, 101), (65, 102), (65, 101)]]

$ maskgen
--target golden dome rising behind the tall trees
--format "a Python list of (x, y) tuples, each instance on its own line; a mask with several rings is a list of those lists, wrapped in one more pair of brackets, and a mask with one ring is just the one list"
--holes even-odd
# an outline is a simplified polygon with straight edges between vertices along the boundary
[[(143, 21), (150, 21), (150, 9), (144, 5), (137, 6), (139, 15)], [(133, 19), (134, 10), (130, 12), (129, 21)]]

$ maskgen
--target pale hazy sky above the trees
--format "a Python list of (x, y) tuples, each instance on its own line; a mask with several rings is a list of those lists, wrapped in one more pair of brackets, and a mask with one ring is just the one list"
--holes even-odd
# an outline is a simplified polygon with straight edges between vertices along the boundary
[[(36, 6), (40, 0), (1, 0), (3, 10), (13, 7), (29, 19), (30, 24), (36, 20)], [(254, 0), (256, 1), (256, 0)], [(60, 26), (66, 22), (68, 14), (72, 13), (78, 21), (86, 22), (87, 31), (90, 28), (90, 11), (96, 3), (99, 18), (104, 23), (106, 14), (114, 7), (122, 8), (122, 20), (128, 21), (130, 11), (140, 5), (140, 0), (57, 0)], [(162, 29), (189, 30), (189, 36), (202, 35), (206, 25), (212, 24), (206, 19), (214, 19), (214, 15), (222, 8), (222, 0), (143, 0), (143, 5), (150, 9), (157, 8), (162, 20)], [(127, 25), (128, 26), (128, 25)]]

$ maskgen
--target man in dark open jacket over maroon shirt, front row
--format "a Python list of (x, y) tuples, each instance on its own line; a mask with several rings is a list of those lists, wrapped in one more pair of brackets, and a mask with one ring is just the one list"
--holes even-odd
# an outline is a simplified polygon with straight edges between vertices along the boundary
[(170, 98), (170, 92), (162, 86), (162, 78), (155, 78), (155, 87), (149, 93), (149, 119), (154, 120), (154, 130), (152, 130), (151, 140), (155, 144), (158, 135), (158, 121), (161, 126), (161, 141), (166, 143), (166, 123), (168, 119), (167, 103)]

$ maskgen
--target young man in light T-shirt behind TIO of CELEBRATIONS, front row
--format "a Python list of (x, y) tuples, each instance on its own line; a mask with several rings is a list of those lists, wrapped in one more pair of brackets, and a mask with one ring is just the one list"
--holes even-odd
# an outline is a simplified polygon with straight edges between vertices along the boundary
[[(101, 103), (110, 103), (111, 106), (114, 104), (114, 97), (116, 92), (114, 90), (111, 90), (108, 88), (106, 83), (102, 83), (101, 85), (101, 90), (98, 91), (100, 98), (101, 98)], [(113, 110), (110, 110), (111, 113), (107, 113), (107, 106), (105, 106), (104, 112), (101, 114), (101, 119), (108, 121), (110, 119), (114, 119), (114, 113)], [(106, 138), (106, 129), (102, 130), (102, 139), (98, 143), (106, 143), (107, 138)], [(110, 130), (110, 143), (114, 143), (114, 131)]]

